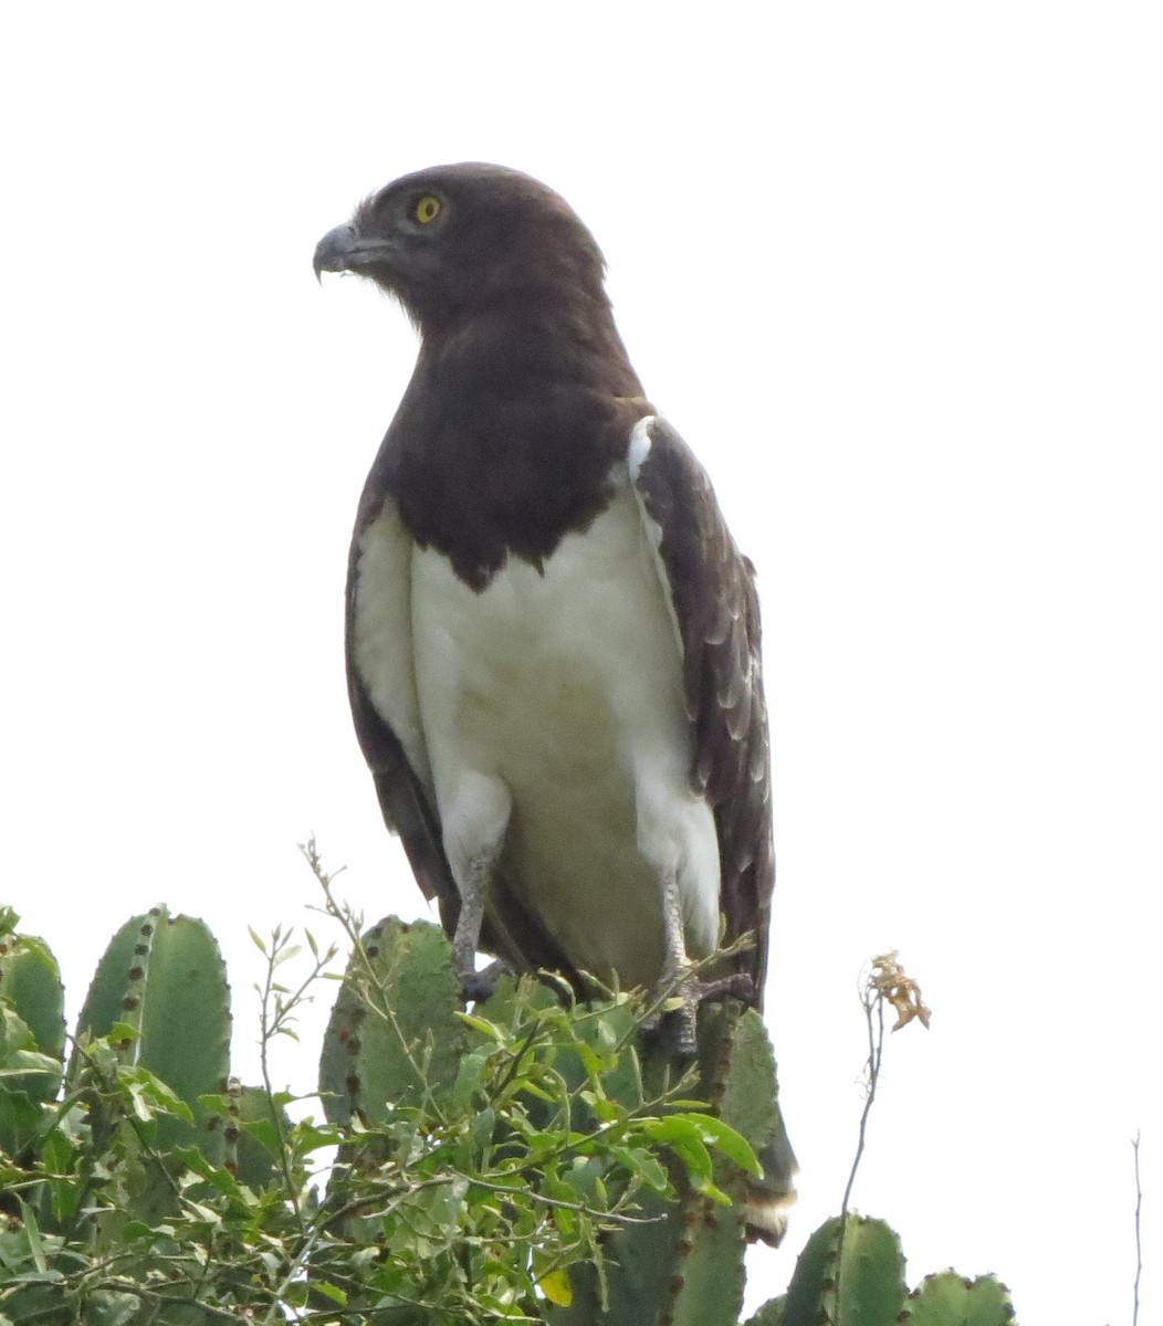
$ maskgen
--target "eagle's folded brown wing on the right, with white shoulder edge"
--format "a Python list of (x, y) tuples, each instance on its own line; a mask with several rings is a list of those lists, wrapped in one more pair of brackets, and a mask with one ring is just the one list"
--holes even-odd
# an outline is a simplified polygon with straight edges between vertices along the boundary
[(691, 786), (715, 814), (725, 937), (753, 936), (736, 965), (751, 973), (761, 1001), (774, 851), (755, 569), (735, 546), (707, 473), (670, 424), (641, 419), (627, 459), (683, 651)]

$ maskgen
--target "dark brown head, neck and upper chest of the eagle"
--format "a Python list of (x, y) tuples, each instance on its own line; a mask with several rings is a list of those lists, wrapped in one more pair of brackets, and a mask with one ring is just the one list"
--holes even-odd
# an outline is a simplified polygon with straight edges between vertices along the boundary
[[(436, 243), (407, 221), (408, 203), (428, 195), (455, 196), (448, 220), (430, 223), (444, 227)], [(515, 171), (448, 166), (390, 184), (332, 236), (341, 252), (317, 264), (370, 276), (423, 337), (371, 500), (394, 493), (416, 540), (475, 587), (508, 554), (536, 561), (583, 529), (650, 404), (614, 326), (602, 256), (565, 203)]]

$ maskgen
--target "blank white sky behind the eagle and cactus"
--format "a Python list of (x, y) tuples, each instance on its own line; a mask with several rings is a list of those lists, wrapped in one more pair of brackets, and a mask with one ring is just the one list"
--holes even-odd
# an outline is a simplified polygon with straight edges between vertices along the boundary
[(245, 927), (317, 902), (296, 842), (369, 920), (423, 914), (341, 646), (414, 339), (310, 257), (406, 170), (524, 168), (597, 233), (761, 574), (804, 1174), (748, 1302), (838, 1209), (857, 977), (895, 945), (934, 1024), (888, 1048), (857, 1205), (912, 1280), (996, 1270), (1026, 1326), (1130, 1322), (1142, 1128), (1158, 1319), (1163, 17), (691, 13), (5, 8), (0, 892), (74, 1012), (122, 919), (204, 916), (244, 1069)]

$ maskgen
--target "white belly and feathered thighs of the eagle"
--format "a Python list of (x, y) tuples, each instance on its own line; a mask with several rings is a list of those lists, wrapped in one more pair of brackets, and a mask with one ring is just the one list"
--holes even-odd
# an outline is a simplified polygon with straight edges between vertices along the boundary
[(688, 785), (682, 658), (623, 479), (540, 574), (511, 560), (476, 594), (412, 553), (420, 728), (458, 879), (500, 869), (562, 952), (623, 988), (662, 968), (660, 879), (678, 878), (691, 956), (719, 927), (719, 846)]

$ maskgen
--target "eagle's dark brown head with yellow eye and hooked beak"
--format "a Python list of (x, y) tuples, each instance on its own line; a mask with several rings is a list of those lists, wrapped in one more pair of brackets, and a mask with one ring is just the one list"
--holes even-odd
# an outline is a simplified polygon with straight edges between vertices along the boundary
[(520, 171), (475, 162), (374, 194), (320, 240), (314, 269), (370, 277), (422, 332), (461, 309), (528, 306), (538, 294), (609, 308), (602, 255), (569, 204)]

